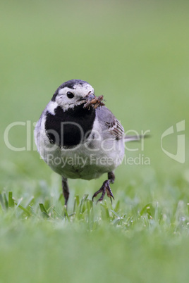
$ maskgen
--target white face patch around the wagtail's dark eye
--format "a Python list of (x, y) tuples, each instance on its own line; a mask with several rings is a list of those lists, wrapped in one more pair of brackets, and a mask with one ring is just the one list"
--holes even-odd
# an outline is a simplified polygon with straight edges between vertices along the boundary
[[(71, 92), (74, 96), (69, 99), (67, 92)], [(94, 89), (90, 84), (75, 84), (74, 89), (69, 87), (64, 87), (59, 89), (59, 92), (56, 96), (56, 103), (58, 106), (61, 106), (63, 110), (68, 110), (69, 108), (74, 108), (83, 103), (81, 99), (85, 98), (87, 94), (94, 94)]]

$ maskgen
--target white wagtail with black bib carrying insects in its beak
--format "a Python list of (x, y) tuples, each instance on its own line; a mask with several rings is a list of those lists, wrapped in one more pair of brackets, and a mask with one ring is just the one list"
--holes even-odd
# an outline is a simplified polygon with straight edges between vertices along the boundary
[(52, 170), (61, 175), (67, 205), (68, 178), (92, 180), (108, 173), (108, 179), (94, 193), (114, 199), (110, 183), (114, 169), (124, 156), (125, 137), (121, 123), (104, 106), (103, 96), (83, 80), (69, 80), (56, 89), (35, 127), (37, 149)]

